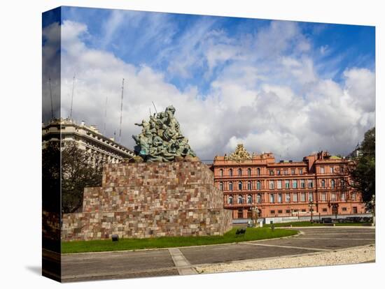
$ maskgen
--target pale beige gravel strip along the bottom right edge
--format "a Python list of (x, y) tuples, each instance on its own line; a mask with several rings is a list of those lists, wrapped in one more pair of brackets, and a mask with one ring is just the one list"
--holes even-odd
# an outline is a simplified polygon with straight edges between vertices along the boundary
[(261, 269), (280, 269), (313, 267), (325, 265), (343, 265), (370, 262), (375, 260), (375, 246), (367, 245), (338, 251), (309, 253), (308, 255), (269, 258), (265, 260), (247, 260), (216, 265), (197, 266), (199, 273), (236, 272)]

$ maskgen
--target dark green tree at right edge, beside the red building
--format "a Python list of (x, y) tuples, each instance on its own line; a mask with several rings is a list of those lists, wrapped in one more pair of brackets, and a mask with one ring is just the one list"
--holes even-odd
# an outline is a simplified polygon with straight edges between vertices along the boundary
[(365, 133), (360, 143), (359, 155), (350, 170), (353, 187), (362, 193), (367, 209), (374, 212), (376, 194), (376, 131), (375, 127)]

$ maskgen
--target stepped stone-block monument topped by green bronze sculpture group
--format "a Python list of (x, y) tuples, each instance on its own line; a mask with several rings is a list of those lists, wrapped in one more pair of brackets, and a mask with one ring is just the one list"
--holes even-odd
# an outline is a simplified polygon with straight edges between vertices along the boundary
[(181, 133), (175, 108), (143, 120), (134, 162), (105, 165), (102, 186), (85, 188), (83, 212), (64, 214), (62, 240), (223, 235), (232, 214), (214, 174)]

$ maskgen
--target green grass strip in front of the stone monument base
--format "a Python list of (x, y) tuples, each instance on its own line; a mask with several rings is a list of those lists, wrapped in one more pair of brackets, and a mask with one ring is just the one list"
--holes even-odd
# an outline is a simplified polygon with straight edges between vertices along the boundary
[[(238, 227), (239, 228), (239, 227)], [(244, 235), (235, 235), (238, 228), (226, 232), (223, 236), (202, 237), (158, 237), (146, 239), (111, 239), (93, 241), (62, 242), (62, 253), (123, 251), (151, 248), (169, 248), (181, 246), (199, 246), (209, 244), (225, 244), (234, 242), (253, 241), (259, 239), (272, 239), (287, 237), (297, 234), (297, 230), (284, 230), (271, 228), (247, 228)]]

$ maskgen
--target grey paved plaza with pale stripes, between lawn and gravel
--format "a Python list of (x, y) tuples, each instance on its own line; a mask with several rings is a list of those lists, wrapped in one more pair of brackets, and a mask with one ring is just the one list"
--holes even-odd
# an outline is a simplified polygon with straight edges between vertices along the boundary
[(374, 244), (371, 227), (298, 228), (282, 239), (172, 249), (62, 255), (62, 281), (197, 274), (199, 265), (306, 255)]

